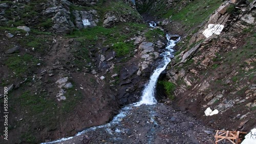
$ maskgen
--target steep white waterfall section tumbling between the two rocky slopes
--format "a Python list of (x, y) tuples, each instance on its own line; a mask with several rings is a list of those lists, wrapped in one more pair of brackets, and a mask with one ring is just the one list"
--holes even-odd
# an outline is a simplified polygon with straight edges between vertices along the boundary
[(146, 105), (152, 105), (155, 104), (156, 98), (155, 98), (155, 89), (156, 89), (156, 83), (157, 80), (162, 73), (162, 71), (166, 68), (168, 63), (170, 62), (169, 57), (174, 57), (171, 53), (174, 52), (173, 47), (176, 45), (176, 42), (180, 40), (180, 37), (178, 37), (176, 40), (170, 39), (170, 35), (166, 34), (166, 38), (168, 40), (168, 43), (165, 47), (165, 52), (161, 53), (163, 56), (163, 61), (161, 64), (154, 70), (153, 74), (150, 77), (150, 82), (146, 85), (145, 89), (142, 92), (141, 101), (136, 103), (136, 106), (140, 106), (142, 104)]

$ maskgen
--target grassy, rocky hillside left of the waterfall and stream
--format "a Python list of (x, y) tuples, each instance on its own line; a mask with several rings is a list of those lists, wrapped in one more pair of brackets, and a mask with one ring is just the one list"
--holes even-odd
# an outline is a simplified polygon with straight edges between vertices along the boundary
[(49, 141), (110, 121), (139, 100), (164, 45), (163, 32), (150, 30), (131, 1), (1, 1), (0, 8), (0, 111), (7, 87), (12, 113), (12, 139), (3, 142)]

